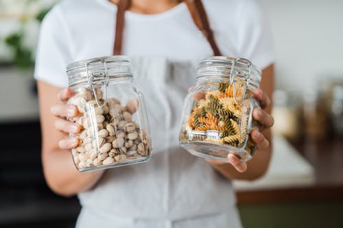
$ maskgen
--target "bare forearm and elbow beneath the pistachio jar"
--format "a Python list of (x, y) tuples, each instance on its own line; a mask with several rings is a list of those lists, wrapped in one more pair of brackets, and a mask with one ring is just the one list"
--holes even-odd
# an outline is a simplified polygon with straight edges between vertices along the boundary
[(66, 197), (92, 188), (104, 173), (104, 170), (80, 173), (67, 150), (43, 151), (42, 160), (47, 184), (51, 190)]

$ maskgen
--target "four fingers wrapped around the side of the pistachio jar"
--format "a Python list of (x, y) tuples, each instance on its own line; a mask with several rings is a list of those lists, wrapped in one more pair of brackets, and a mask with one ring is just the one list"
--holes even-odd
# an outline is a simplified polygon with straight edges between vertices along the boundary
[(81, 130), (81, 126), (77, 123), (71, 123), (66, 118), (74, 117), (78, 115), (78, 108), (74, 105), (67, 105), (67, 100), (73, 97), (74, 92), (70, 88), (64, 88), (58, 92), (58, 99), (60, 103), (56, 103), (51, 106), (50, 112), (56, 116), (55, 127), (59, 131), (62, 131), (66, 138), (58, 142), (60, 149), (73, 149), (78, 147), (79, 140), (77, 137), (69, 138), (68, 134), (78, 134)]

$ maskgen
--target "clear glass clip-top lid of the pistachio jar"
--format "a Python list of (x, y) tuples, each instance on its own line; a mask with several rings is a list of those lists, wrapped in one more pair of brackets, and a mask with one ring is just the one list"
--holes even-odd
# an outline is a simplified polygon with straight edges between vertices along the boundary
[(124, 55), (113, 55), (99, 58), (91, 58), (73, 62), (67, 65), (69, 86), (88, 83), (89, 77), (93, 81), (102, 81), (108, 78), (132, 77), (130, 61)]

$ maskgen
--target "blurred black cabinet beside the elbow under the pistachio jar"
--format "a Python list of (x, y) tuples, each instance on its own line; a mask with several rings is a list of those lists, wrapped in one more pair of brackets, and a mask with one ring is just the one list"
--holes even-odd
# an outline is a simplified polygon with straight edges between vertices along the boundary
[(0, 123), (0, 227), (74, 227), (76, 197), (58, 197), (45, 183), (38, 121)]

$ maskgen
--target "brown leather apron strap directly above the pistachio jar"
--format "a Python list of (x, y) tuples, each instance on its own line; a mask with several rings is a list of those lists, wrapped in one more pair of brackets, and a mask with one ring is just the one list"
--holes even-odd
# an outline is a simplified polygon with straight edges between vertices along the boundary
[(117, 6), (117, 20), (115, 24), (115, 45), (113, 46), (113, 54), (121, 55), (121, 44), (123, 43), (123, 28), (125, 21), (125, 12), (130, 8), (130, 0), (120, 0)]

